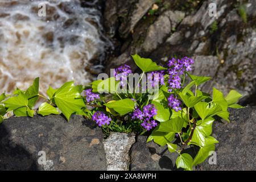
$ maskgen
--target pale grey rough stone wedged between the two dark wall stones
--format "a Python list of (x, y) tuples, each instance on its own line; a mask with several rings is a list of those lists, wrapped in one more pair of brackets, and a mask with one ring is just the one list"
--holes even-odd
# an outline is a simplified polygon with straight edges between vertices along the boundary
[(127, 171), (130, 162), (130, 148), (135, 142), (135, 135), (112, 133), (104, 140), (108, 171)]

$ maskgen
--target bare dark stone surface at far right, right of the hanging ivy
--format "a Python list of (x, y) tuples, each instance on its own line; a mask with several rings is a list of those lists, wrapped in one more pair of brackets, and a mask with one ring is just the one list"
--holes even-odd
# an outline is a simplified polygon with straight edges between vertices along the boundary
[(256, 107), (230, 111), (230, 123), (213, 125), (217, 163), (200, 164), (201, 170), (256, 170)]

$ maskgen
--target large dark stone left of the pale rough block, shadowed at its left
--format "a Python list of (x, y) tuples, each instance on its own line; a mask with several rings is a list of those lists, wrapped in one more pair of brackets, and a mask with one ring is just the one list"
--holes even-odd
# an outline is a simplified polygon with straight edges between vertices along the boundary
[(60, 115), (11, 117), (0, 125), (0, 170), (105, 170), (102, 139), (77, 115), (69, 123)]

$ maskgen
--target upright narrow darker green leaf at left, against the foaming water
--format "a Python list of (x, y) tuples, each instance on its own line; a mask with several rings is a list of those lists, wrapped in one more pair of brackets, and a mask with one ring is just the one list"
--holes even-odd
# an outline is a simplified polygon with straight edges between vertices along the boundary
[(39, 93), (39, 77), (35, 78), (33, 84), (27, 89), (25, 92), (28, 98), (28, 106), (33, 107), (38, 101), (38, 93)]

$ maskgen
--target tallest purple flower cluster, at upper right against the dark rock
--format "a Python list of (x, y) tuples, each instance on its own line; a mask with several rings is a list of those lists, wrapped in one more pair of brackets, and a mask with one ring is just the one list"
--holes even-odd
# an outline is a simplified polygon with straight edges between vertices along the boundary
[(180, 75), (183, 75), (184, 71), (191, 71), (191, 65), (194, 63), (194, 60), (185, 56), (182, 59), (172, 58), (168, 63), (168, 73), (169, 80), (168, 84), (170, 86), (169, 92), (172, 92), (172, 89), (181, 88), (181, 78)]

